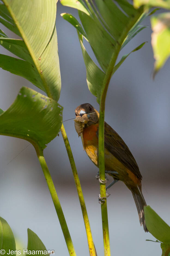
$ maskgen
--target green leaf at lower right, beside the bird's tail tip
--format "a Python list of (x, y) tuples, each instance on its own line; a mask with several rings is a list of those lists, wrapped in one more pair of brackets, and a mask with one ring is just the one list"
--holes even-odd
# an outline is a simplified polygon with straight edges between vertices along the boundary
[(148, 231), (162, 243), (170, 244), (170, 227), (149, 205), (144, 207), (144, 214)]

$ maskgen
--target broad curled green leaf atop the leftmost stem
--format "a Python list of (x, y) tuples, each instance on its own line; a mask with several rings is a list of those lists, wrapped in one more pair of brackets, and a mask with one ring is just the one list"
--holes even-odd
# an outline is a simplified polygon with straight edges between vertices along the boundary
[(22, 87), (13, 104), (0, 115), (0, 134), (25, 139), (44, 149), (60, 130), (62, 109), (51, 98)]

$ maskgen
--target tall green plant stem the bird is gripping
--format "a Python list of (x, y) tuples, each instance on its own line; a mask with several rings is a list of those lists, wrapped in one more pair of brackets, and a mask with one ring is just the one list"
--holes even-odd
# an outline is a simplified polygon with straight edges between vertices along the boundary
[[(122, 32), (119, 41), (116, 43), (115, 51), (111, 56), (110, 63), (105, 74), (103, 89), (100, 98), (100, 112), (99, 112), (99, 174), (100, 179), (105, 180), (105, 164), (104, 164), (104, 116), (105, 116), (105, 100), (107, 95), (108, 86), (110, 83), (111, 76), (113, 75), (113, 68), (117, 60), (117, 56), (120, 52), (122, 43), (130, 30), (130, 28), (135, 24), (139, 16), (142, 14), (143, 8), (139, 8), (139, 13), (134, 17), (134, 19), (129, 22), (126, 29)], [(100, 196), (106, 196), (106, 186), (105, 184), (100, 184)], [(102, 214), (102, 228), (103, 228), (103, 241), (104, 241), (104, 255), (110, 256), (110, 241), (109, 241), (109, 228), (108, 228), (108, 214), (107, 214), (107, 202), (105, 200), (104, 204), (101, 204), (101, 214)]]

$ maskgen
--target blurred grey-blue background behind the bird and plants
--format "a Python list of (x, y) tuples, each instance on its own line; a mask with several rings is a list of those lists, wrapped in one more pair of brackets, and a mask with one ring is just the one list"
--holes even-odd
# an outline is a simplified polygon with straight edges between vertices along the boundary
[[(77, 19), (78, 14), (74, 9), (57, 4), (56, 27), (62, 78), (59, 103), (64, 107), (63, 120), (67, 120), (74, 118), (75, 108), (82, 103), (91, 103), (98, 110), (99, 105), (87, 87), (77, 32), (60, 16), (63, 12), (72, 13)], [(130, 54), (113, 75), (106, 98), (105, 121), (119, 133), (135, 157), (143, 176), (142, 191), (146, 202), (170, 225), (170, 61), (153, 80), (149, 18), (143, 24), (148, 27), (120, 53), (119, 59), (147, 41), (141, 50)], [(1, 28), (10, 36), (3, 26)], [(89, 46), (86, 43), (85, 46), (95, 59)], [(2, 47), (1, 53), (9, 54)], [(0, 107), (3, 110), (13, 103), (22, 86), (42, 92), (22, 77), (2, 69), (0, 75)], [(95, 179), (98, 168), (83, 151), (74, 121), (66, 121), (64, 126), (81, 181), (94, 243), (98, 256), (101, 256), (101, 207), (98, 203), (99, 183)], [(7, 220), (25, 249), (27, 228), (30, 228), (48, 250), (55, 251), (55, 255), (68, 255), (33, 146), (22, 139), (7, 136), (0, 136), (0, 143), (0, 216)], [(77, 255), (89, 255), (81, 208), (61, 134), (48, 144), (44, 155)], [(140, 227), (131, 192), (122, 182), (117, 182), (109, 192), (111, 196), (107, 202), (112, 255), (161, 255), (159, 243), (145, 241), (156, 239)]]

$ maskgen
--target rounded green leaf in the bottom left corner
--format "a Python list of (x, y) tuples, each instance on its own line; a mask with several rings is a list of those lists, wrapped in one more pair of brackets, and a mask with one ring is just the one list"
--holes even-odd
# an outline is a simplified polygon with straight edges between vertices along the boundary
[(4, 256), (8, 255), (7, 253), (9, 250), (16, 250), (13, 232), (6, 220), (4, 220), (2, 217), (0, 217), (0, 250), (1, 249), (5, 250), (5, 254), (0, 254)]

